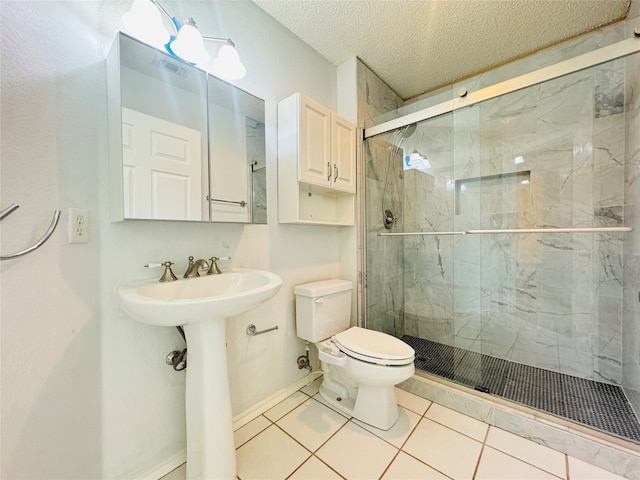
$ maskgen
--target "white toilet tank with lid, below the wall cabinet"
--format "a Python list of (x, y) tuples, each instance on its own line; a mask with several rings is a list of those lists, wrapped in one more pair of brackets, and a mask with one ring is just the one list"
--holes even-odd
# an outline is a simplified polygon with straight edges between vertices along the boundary
[(352, 289), (350, 281), (338, 279), (295, 287), (298, 337), (319, 342), (349, 328)]

